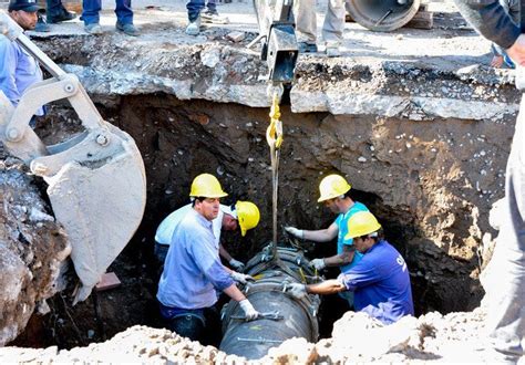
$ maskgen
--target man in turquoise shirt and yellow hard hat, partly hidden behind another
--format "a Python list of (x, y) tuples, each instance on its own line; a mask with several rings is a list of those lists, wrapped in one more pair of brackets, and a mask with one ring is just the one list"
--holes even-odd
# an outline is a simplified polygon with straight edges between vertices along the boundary
[[(336, 220), (328, 228), (319, 230), (285, 227), (288, 233), (313, 242), (329, 242), (337, 237), (336, 255), (310, 261), (310, 265), (317, 270), (322, 270), (327, 267), (339, 267), (342, 272), (352, 268), (362, 258), (360, 253), (354, 253), (352, 238), (347, 237), (348, 220), (358, 211), (368, 211), (368, 208), (352, 199), (350, 189), (351, 185), (342, 176), (336, 174), (326, 176), (319, 184), (320, 197), (318, 202), (322, 202), (332, 212), (338, 213)], [(342, 296), (352, 306), (352, 293), (346, 293)]]

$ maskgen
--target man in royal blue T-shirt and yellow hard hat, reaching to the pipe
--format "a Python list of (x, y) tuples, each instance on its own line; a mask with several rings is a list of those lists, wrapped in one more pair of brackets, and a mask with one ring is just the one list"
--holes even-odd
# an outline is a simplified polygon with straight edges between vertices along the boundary
[(414, 315), (410, 274), (401, 253), (380, 237), (381, 225), (369, 211), (360, 211), (348, 221), (348, 238), (363, 254), (353, 268), (337, 279), (318, 284), (290, 283), (286, 290), (296, 298), (353, 291), (357, 312), (368, 313), (385, 324)]

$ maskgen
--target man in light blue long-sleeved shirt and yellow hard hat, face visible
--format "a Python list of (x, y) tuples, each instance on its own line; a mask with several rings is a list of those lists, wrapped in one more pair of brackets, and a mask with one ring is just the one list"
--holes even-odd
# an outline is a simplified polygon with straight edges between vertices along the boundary
[(192, 182), (189, 196), (193, 209), (173, 232), (157, 300), (172, 331), (203, 341), (208, 321), (218, 320), (216, 291), (239, 302), (246, 320), (255, 320), (259, 313), (235, 284), (253, 278), (225, 268), (218, 255), (212, 221), (219, 212), (219, 199), (227, 194), (215, 176), (202, 174)]

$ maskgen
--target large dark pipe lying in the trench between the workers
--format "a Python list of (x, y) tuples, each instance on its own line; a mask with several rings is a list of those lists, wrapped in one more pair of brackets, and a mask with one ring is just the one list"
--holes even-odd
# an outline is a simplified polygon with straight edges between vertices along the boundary
[(239, 320), (243, 310), (238, 303), (230, 301), (223, 309), (224, 335), (219, 347), (227, 354), (258, 359), (285, 340), (305, 337), (317, 342), (319, 337), (319, 296), (306, 295), (298, 300), (285, 293), (282, 284), (285, 281), (310, 283), (320, 278), (308, 265), (302, 251), (278, 248), (277, 260), (271, 257), (271, 246), (268, 246), (247, 263), (245, 272), (256, 281), (246, 285), (244, 293), (259, 313), (278, 312), (281, 319), (245, 322)]

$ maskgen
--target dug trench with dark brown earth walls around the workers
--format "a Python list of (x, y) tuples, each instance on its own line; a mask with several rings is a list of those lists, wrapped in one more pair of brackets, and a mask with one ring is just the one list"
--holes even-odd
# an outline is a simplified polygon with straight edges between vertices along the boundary
[[(130, 133), (143, 155), (148, 197), (143, 222), (109, 270), (120, 278), (119, 288), (97, 293), (96, 302), (89, 299), (76, 306), (71, 305), (72, 288), (68, 288), (48, 301), (51, 312), (44, 316), (34, 314), (11, 345), (71, 348), (111, 338), (134, 324), (162, 327), (155, 300), (159, 267), (153, 255), (153, 237), (164, 217), (187, 204), (189, 184), (200, 173), (219, 178), (229, 192), (226, 204), (246, 199), (260, 209), (259, 226), (245, 238), (239, 233), (223, 234), (233, 257), (247, 262), (271, 240), (267, 108), (181, 101), (162, 93), (109, 98), (97, 95), (94, 100), (103, 117)], [(433, 123), (421, 128), (421, 124), (395, 118), (294, 114), (287, 105), (282, 105), (281, 113), (285, 143), (279, 169), (279, 227), (328, 227), (334, 216), (317, 204), (319, 181), (327, 174), (346, 175), (353, 186), (354, 200), (377, 215), (387, 240), (404, 255), (411, 271), (416, 315), (470, 311), (478, 305), (483, 290), (477, 280), (481, 263), (474, 243), (481, 238), (471, 232), (475, 209), (457, 205), (454, 209), (459, 219), (452, 223), (446, 221), (446, 213), (431, 212), (431, 197), (439, 194), (439, 188), (412, 166), (424, 158), (429, 146), (423, 142), (431, 140), (437, 132), (446, 133), (447, 128), (459, 129), (459, 134), (473, 133), (471, 124), (440, 121), (439, 127)], [(78, 129), (73, 111), (60, 103), (51, 107), (47, 122), (38, 126), (38, 133), (49, 144)], [(404, 158), (385, 158), (381, 149), (392, 148), (385, 143), (390, 138), (395, 140), (401, 131), (414, 134), (420, 146), (414, 144)], [(414, 153), (418, 148), (420, 152)], [(446, 154), (433, 157), (432, 169), (452, 169), (453, 148), (441, 148)], [(359, 157), (367, 153), (368, 163), (363, 163)], [(456, 199), (461, 189), (454, 186), (456, 181), (450, 184), (453, 198), (449, 199)], [(430, 188), (436, 191), (423, 191)], [(422, 219), (429, 225), (422, 225)], [(449, 234), (443, 234), (442, 228)], [(279, 237), (284, 234), (280, 229)], [(334, 254), (336, 244), (303, 242), (302, 249), (313, 259)], [(337, 274), (332, 269), (325, 277)], [(344, 305), (337, 295), (325, 298), (319, 312), (321, 337), (330, 337), (332, 324), (344, 313)]]

